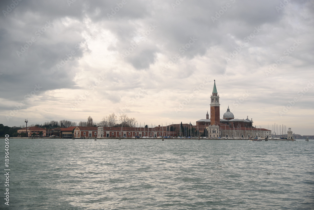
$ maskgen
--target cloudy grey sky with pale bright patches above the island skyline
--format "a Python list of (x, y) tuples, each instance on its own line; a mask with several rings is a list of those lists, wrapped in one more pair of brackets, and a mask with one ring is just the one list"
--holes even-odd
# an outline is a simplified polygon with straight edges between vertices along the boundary
[(314, 135), (312, 0), (0, 2), (0, 123), (192, 123), (228, 106)]

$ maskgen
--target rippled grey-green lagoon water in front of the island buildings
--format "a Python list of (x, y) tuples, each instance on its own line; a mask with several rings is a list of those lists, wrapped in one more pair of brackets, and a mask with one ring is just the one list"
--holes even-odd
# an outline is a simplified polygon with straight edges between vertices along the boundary
[(314, 209), (313, 140), (10, 139), (9, 146), (10, 206), (1, 196), (0, 209)]

